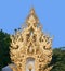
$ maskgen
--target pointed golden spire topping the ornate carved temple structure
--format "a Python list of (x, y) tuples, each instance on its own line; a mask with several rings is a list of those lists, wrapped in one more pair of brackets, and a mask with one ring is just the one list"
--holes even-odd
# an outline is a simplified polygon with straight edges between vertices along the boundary
[(31, 8), (30, 13), (26, 20), (27, 25), (37, 25), (39, 23), (39, 20), (35, 13), (35, 9)]

